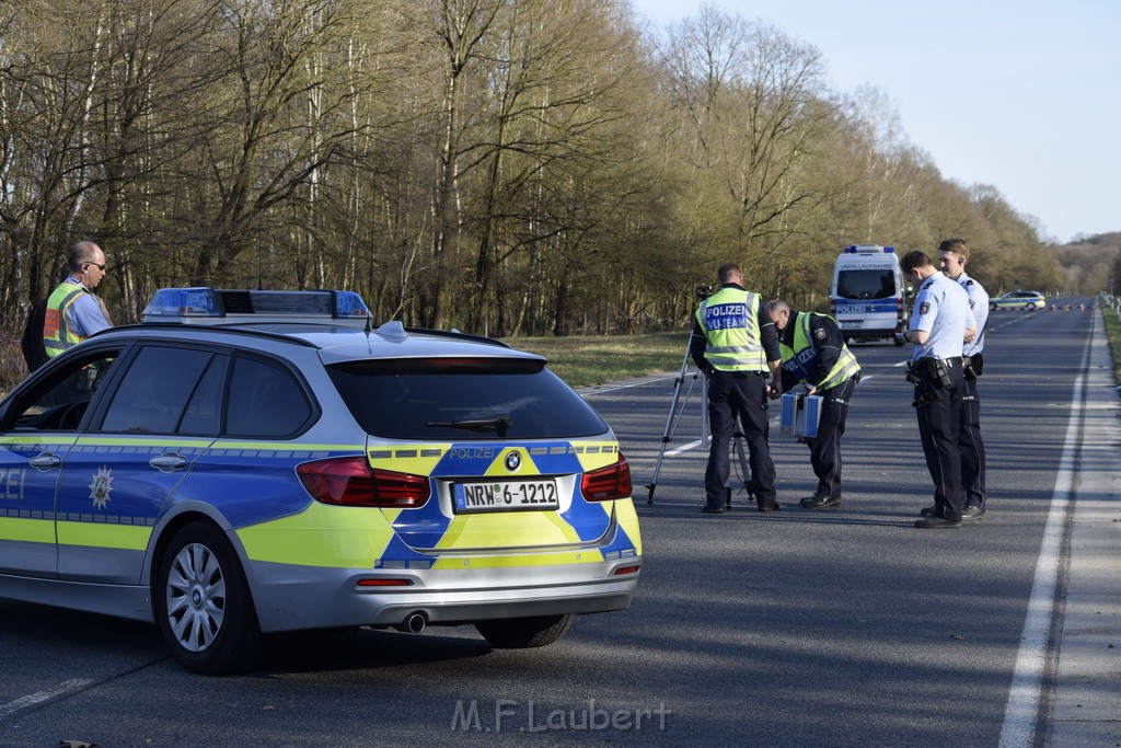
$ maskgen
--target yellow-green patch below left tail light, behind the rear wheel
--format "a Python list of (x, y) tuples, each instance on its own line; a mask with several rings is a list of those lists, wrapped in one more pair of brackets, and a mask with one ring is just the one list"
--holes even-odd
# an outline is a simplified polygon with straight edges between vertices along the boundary
[(332, 569), (372, 569), (393, 537), (379, 511), (318, 501), (298, 515), (235, 532), (253, 561)]

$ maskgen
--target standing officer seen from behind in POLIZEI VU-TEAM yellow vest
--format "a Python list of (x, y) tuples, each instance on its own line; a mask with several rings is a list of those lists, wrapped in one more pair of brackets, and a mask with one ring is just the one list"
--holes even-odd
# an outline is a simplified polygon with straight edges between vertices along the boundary
[[(701, 509), (721, 514), (728, 482), (729, 447), (735, 417), (748, 443), (751, 493), (759, 511), (775, 511), (775, 463), (767, 444), (767, 375), (778, 381), (778, 336), (759, 294), (743, 287), (738, 265), (722, 265), (720, 289), (701, 302), (689, 339), (689, 355), (708, 378), (708, 423), (712, 449), (704, 482), (707, 502)], [(777, 385), (776, 385), (777, 386)]]

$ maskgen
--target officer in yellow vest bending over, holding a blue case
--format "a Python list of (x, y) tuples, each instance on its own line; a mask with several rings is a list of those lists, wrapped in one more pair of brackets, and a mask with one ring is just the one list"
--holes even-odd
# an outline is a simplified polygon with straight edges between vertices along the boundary
[(772, 388), (777, 398), (796, 384), (808, 395), (822, 397), (817, 436), (807, 438), (809, 464), (817, 475), (817, 490), (802, 500), (807, 509), (841, 506), (841, 437), (849, 401), (860, 380), (856, 357), (844, 344), (837, 323), (824, 314), (796, 312), (781, 301), (767, 302), (767, 314), (778, 331), (782, 358), (781, 382)]

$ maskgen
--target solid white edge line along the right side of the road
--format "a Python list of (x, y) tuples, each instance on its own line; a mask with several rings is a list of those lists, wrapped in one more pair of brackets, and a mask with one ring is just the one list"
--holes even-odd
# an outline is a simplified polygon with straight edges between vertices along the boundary
[(1050, 639), (1055, 595), (1058, 591), (1059, 553), (1063, 548), (1063, 532), (1071, 506), (1071, 489), (1074, 484), (1075, 447), (1084, 415), (1081, 405), (1084, 379), (1085, 375), (1078, 376), (1071, 397), (1071, 421), (1066, 427), (1063, 459), (1055, 479), (1055, 492), (1051, 495), (1047, 526), (1039, 547), (1031, 598), (1028, 600), (1028, 613), (1023, 621), (1023, 632), (1020, 635), (1020, 649), (1016, 655), (1016, 668), (1012, 671), (1012, 685), (1009, 689), (1004, 724), (998, 744), (1001, 748), (1035, 745), (1036, 719), (1039, 715), (1039, 699), (1047, 667), (1047, 644)]

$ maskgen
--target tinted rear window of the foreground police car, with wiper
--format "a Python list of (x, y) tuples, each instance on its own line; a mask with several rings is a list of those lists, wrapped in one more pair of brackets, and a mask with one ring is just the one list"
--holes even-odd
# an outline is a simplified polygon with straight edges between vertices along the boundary
[(367, 433), (464, 441), (597, 436), (606, 424), (535, 359), (350, 361), (331, 379)]

